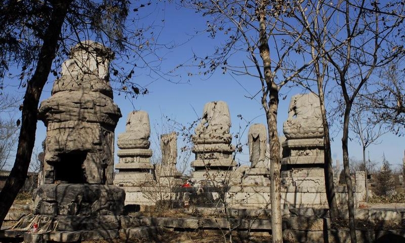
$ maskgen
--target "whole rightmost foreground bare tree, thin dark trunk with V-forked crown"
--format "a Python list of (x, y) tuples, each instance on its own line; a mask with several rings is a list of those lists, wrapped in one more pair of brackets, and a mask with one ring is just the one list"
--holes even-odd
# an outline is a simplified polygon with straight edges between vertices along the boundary
[[(380, 6), (377, 2), (341, 1), (336, 6), (339, 15), (343, 18), (337, 38), (331, 38), (328, 45), (338, 45), (341, 38), (347, 40), (342, 48), (327, 53), (328, 61), (334, 68), (334, 75), (341, 87), (344, 105), (343, 111), (343, 166), (348, 191), (349, 227), (351, 242), (356, 242), (354, 222), (353, 188), (349, 167), (349, 120), (353, 103), (367, 84), (376, 68), (384, 66), (403, 56), (403, 50), (393, 49), (400, 45), (396, 31), (402, 24), (403, 5), (396, 3)], [(396, 15), (390, 15), (394, 11)], [(319, 43), (320, 44), (320, 43)]]

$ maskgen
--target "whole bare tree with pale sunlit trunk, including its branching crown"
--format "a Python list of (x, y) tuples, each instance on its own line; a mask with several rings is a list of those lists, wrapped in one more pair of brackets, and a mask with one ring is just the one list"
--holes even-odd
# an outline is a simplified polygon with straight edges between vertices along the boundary
[[(280, 211), (280, 143), (277, 133), (279, 92), (314, 58), (304, 55), (302, 38), (307, 28), (297, 24), (292, 14), (301, 3), (284, 1), (181, 1), (186, 7), (209, 16), (207, 32), (225, 41), (213, 55), (194, 56), (204, 75), (217, 68), (230, 75), (250, 75), (260, 80), (261, 105), (265, 111), (270, 145), (271, 228), (273, 242), (282, 241)], [(309, 20), (313, 21), (313, 20)], [(312, 22), (311, 22), (312, 23)], [(245, 55), (247, 61), (232, 59)], [(297, 59), (291, 58), (296, 55)], [(260, 58), (258, 57), (260, 56)], [(240, 57), (240, 56), (239, 56)], [(298, 61), (297, 61), (298, 60)], [(252, 97), (253, 98), (253, 97)]]

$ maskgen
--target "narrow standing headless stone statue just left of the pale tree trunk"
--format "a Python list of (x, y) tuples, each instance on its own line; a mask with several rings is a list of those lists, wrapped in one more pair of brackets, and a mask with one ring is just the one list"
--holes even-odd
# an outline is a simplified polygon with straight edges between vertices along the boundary
[(270, 185), (270, 164), (267, 156), (267, 129), (263, 124), (253, 124), (248, 133), (251, 167), (245, 172), (242, 183)]

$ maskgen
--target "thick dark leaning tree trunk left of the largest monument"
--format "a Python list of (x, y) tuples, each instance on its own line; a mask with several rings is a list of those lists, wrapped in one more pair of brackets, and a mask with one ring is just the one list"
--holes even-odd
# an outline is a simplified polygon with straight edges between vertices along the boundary
[(6, 180), (3, 190), (0, 192), (0, 226), (13, 205), (14, 199), (23, 187), (32, 150), (35, 143), (35, 132), (37, 122), (37, 109), (39, 98), (47, 82), (52, 62), (58, 49), (59, 36), (62, 31), (67, 9), (70, 1), (53, 2), (53, 10), (41, 51), (39, 52), (36, 69), (27, 84), (22, 106), (22, 120), (16, 159), (10, 176)]

